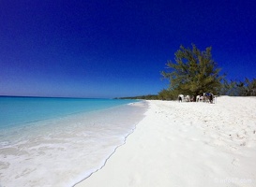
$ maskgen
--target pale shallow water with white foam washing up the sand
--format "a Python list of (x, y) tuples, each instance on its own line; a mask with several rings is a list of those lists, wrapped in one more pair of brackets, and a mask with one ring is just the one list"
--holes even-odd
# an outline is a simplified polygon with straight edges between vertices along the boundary
[(146, 108), (135, 102), (1, 132), (0, 186), (74, 186), (105, 165)]

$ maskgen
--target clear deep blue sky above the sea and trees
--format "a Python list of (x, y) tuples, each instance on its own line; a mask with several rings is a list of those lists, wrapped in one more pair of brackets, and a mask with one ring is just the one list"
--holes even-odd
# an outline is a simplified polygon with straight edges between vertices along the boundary
[(253, 1), (0, 1), (0, 95), (158, 94), (182, 44), (256, 78)]

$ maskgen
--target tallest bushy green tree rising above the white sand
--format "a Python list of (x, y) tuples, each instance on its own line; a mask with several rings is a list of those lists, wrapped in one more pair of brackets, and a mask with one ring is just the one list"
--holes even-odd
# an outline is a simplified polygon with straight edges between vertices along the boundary
[[(219, 94), (221, 80), (220, 68), (212, 59), (211, 47), (199, 50), (192, 44), (192, 49), (180, 46), (175, 52), (175, 63), (168, 61), (169, 71), (162, 71), (164, 79), (170, 80), (170, 90), (173, 94), (198, 95), (204, 92)], [(171, 70), (171, 71), (170, 71)]]

